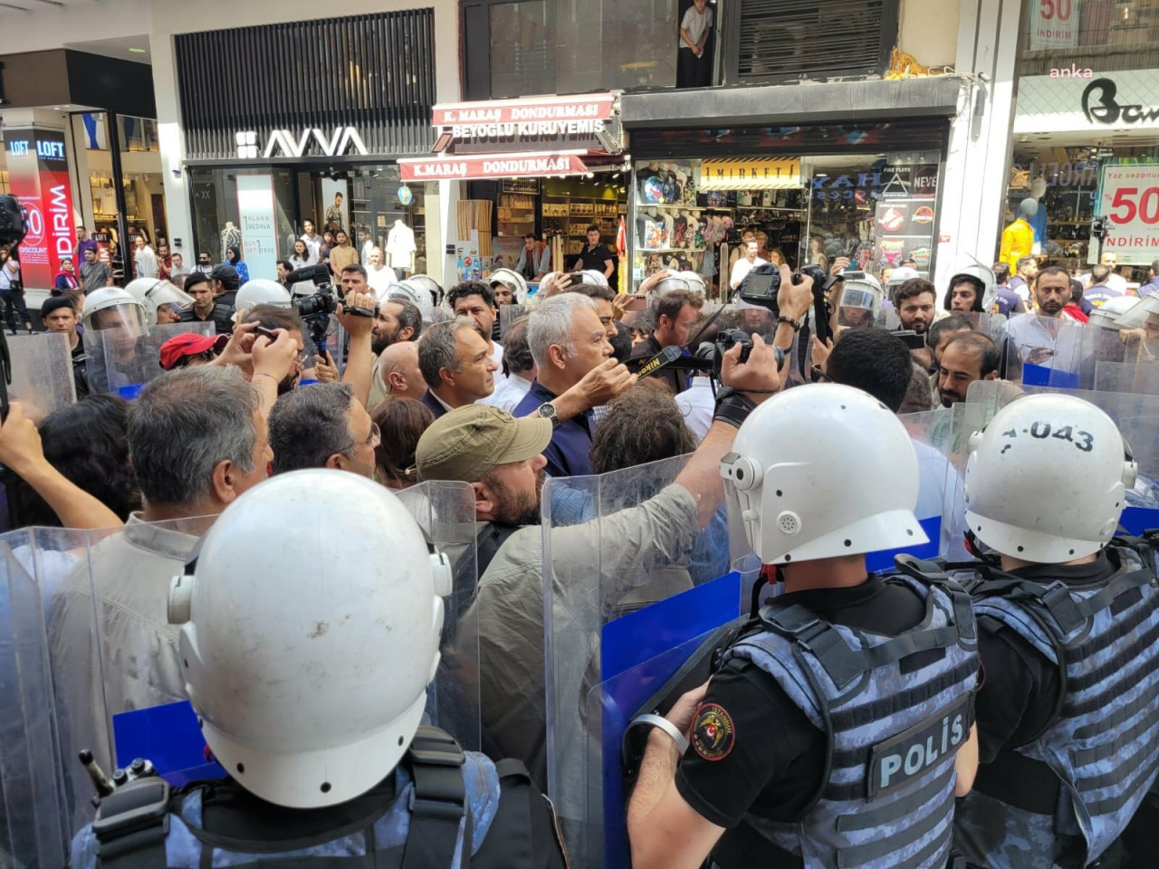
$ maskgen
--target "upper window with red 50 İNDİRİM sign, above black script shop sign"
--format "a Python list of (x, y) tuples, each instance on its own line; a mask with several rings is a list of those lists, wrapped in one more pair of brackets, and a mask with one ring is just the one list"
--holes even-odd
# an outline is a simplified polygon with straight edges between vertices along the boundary
[(1159, 67), (1159, 0), (1026, 0), (1022, 75)]

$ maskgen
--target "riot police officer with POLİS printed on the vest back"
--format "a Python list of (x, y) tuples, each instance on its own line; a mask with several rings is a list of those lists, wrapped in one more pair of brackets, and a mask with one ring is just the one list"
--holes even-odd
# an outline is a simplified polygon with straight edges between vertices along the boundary
[(866, 575), (866, 553), (925, 540), (905, 429), (860, 389), (802, 386), (745, 419), (721, 474), (783, 593), (654, 722), (633, 866), (945, 866), (976, 745), (969, 598)]

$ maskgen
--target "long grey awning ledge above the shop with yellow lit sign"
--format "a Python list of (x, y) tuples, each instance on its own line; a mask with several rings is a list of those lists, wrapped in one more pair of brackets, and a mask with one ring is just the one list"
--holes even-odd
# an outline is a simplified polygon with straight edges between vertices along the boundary
[(628, 130), (759, 126), (767, 119), (777, 124), (822, 124), (952, 117), (957, 114), (965, 82), (961, 75), (931, 75), (624, 94), (620, 117)]

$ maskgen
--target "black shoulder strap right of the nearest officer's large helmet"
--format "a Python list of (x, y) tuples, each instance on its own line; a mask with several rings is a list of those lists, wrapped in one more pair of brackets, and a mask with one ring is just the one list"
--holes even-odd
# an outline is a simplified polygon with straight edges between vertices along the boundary
[(415, 789), (410, 795), (410, 831), (402, 854), (402, 869), (443, 869), (454, 861), (459, 826), (466, 818), (462, 859), (471, 861), (471, 813), (462, 781), (466, 755), (450, 733), (422, 726), (407, 752)]

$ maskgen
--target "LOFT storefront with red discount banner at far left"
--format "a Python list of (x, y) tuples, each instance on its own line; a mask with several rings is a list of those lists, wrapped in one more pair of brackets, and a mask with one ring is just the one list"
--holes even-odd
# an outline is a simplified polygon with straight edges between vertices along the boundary
[(118, 282), (132, 279), (134, 239), (168, 242), (150, 67), (72, 50), (9, 54), (0, 67), (0, 192), (21, 199), (34, 229), (25, 285), (53, 285), (80, 228)]

